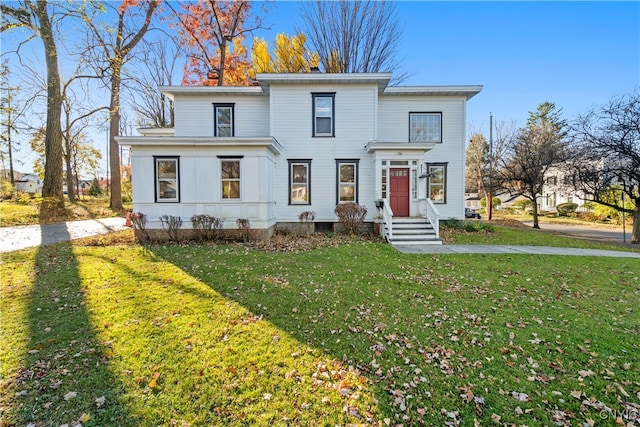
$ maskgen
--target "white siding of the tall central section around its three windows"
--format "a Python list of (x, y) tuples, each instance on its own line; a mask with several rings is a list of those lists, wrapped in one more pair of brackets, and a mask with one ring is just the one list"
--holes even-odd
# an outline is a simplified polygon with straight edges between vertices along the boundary
[[(335, 92), (335, 137), (312, 136), (312, 93)], [(276, 216), (296, 222), (304, 211), (316, 221), (335, 221), (336, 159), (359, 160), (358, 202), (372, 219), (374, 212), (373, 160), (364, 149), (374, 139), (377, 86), (276, 86), (270, 89), (271, 135), (284, 147), (275, 176)], [(312, 159), (311, 205), (289, 205), (288, 160)]]

